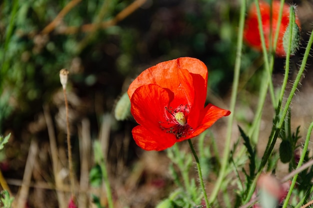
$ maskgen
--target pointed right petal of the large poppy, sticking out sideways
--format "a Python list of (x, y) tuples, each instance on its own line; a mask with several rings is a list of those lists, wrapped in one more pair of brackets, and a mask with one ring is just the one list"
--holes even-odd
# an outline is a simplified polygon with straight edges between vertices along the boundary
[(203, 115), (201, 119), (201, 124), (198, 126), (191, 134), (191, 137), (197, 136), (205, 129), (211, 127), (218, 119), (222, 118), (223, 116), (228, 116), (230, 114), (229, 110), (224, 110), (214, 106), (212, 104), (208, 104), (202, 111), (201, 115)]

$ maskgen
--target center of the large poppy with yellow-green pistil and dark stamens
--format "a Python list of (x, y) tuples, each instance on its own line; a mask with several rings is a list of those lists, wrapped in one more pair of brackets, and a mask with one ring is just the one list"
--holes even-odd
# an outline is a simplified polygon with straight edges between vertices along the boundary
[(176, 139), (186, 137), (193, 130), (186, 122), (186, 116), (189, 113), (189, 105), (179, 105), (177, 108), (172, 109), (165, 107), (167, 112), (165, 122), (159, 122), (160, 128), (166, 133), (174, 134)]

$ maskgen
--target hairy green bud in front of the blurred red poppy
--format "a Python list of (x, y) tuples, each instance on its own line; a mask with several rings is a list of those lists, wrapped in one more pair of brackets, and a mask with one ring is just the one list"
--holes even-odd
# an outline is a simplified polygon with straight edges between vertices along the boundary
[(300, 34), (299, 34), (299, 27), (295, 23), (295, 13), (294, 7), (290, 7), (290, 20), (289, 25), (283, 34), (283, 49), (287, 54), (288, 46), (289, 46), (289, 39), (291, 36), (291, 43), (290, 43), (290, 54), (294, 54), (299, 49), (299, 42), (300, 42)]

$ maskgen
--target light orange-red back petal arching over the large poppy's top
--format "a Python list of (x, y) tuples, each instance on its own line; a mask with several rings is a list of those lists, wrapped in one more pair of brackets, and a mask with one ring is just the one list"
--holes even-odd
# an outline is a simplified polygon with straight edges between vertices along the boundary
[(156, 84), (168, 88), (174, 92), (179, 86), (177, 71), (185, 69), (192, 74), (199, 74), (207, 85), (207, 68), (198, 59), (183, 57), (166, 62), (161, 62), (153, 67), (144, 70), (129, 86), (128, 96), (131, 98), (133, 92), (142, 85)]

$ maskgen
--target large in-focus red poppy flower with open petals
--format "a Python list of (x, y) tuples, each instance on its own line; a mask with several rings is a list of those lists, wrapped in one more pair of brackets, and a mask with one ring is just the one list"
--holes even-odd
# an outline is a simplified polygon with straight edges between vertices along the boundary
[(132, 129), (138, 146), (163, 150), (199, 135), (230, 114), (212, 104), (204, 108), (207, 68), (194, 58), (178, 58), (144, 70), (129, 86)]

